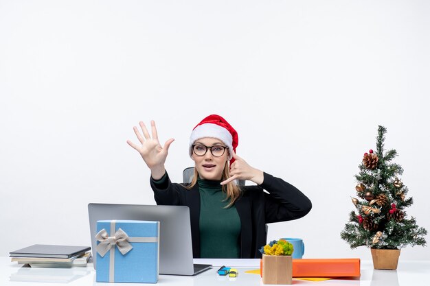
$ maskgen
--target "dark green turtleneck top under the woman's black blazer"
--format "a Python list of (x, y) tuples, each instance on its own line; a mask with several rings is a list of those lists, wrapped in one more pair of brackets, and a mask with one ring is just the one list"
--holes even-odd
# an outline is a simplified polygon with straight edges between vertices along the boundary
[(240, 218), (236, 206), (225, 208), (220, 181), (198, 178), (201, 258), (240, 258)]

